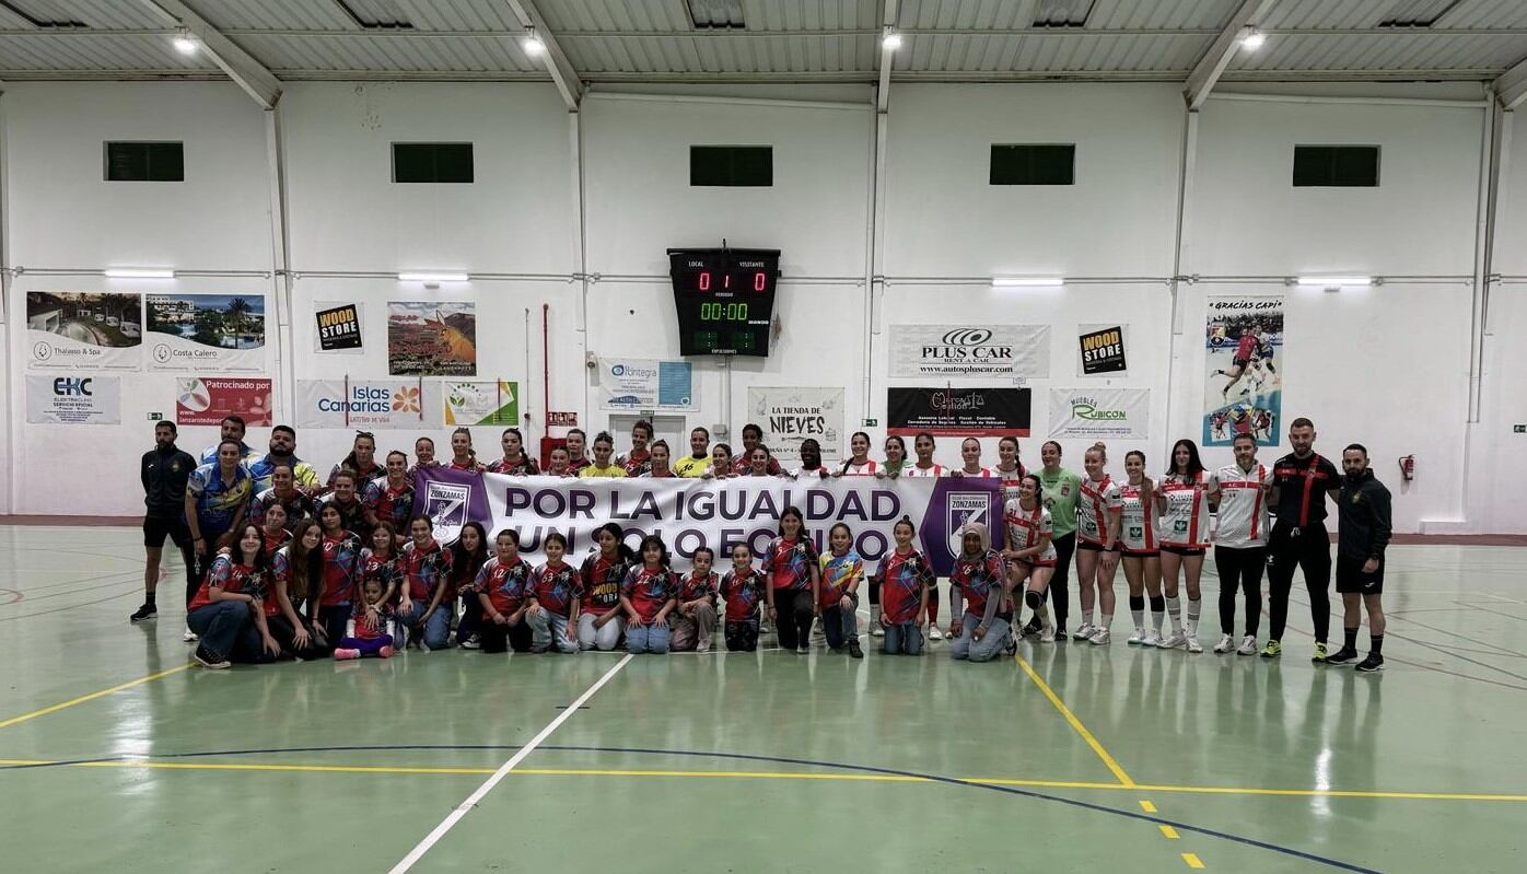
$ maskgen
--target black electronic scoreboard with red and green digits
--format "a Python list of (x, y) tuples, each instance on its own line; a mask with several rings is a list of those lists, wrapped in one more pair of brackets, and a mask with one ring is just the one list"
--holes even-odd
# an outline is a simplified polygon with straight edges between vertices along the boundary
[(779, 249), (669, 249), (680, 354), (768, 354)]

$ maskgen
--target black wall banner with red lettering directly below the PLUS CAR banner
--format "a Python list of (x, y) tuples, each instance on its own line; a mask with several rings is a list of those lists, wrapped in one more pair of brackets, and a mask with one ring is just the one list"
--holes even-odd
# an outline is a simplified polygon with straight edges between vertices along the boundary
[(886, 432), (902, 437), (1028, 437), (1028, 388), (889, 388)]

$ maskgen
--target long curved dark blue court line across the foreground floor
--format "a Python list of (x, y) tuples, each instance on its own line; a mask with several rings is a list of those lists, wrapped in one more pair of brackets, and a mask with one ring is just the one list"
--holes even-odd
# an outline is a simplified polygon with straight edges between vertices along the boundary
[[(194, 752), (194, 753), (157, 753), (151, 756), (113, 756), (113, 758), (90, 758), (90, 759), (69, 759), (69, 761), (53, 761), (43, 764), (21, 764), (21, 766), (0, 766), (3, 770), (21, 770), (21, 769), (47, 769), (47, 767), (64, 767), (92, 762), (110, 762), (110, 761), (133, 761), (136, 758), (147, 759), (183, 759), (183, 758), (212, 758), (212, 756), (243, 756), (243, 755), (263, 755), (263, 753), (318, 753), (318, 752), (377, 752), (377, 750), (518, 750), (518, 744), (363, 744), (363, 746), (339, 746), (339, 747), (267, 747), (267, 749), (240, 749), (240, 750), (212, 750), (212, 752)], [(1380, 874), (1377, 869), (1364, 868), (1361, 865), (1353, 865), (1342, 862), (1339, 859), (1328, 859), (1325, 856), (1316, 856), (1313, 853), (1306, 853), (1303, 850), (1295, 850), (1292, 846), (1283, 846), (1280, 843), (1267, 843), (1266, 840), (1257, 840), (1255, 837), (1245, 837), (1241, 834), (1232, 834), (1229, 831), (1219, 831), (1215, 828), (1205, 828), (1200, 825), (1191, 825), (1186, 822), (1179, 822), (1176, 819), (1164, 819), (1161, 816), (1150, 816), (1147, 813), (1136, 813), (1132, 810), (1118, 810), (1113, 807), (1106, 807), (1101, 804), (1092, 804), (1087, 801), (1077, 801), (1070, 798), (1061, 798), (1058, 795), (1046, 795), (1041, 791), (1034, 791), (1028, 788), (1017, 788), (1011, 785), (993, 785), (985, 782), (971, 782), (965, 779), (954, 779), (951, 776), (938, 776), (928, 773), (918, 773), (909, 770), (896, 769), (881, 769), (872, 766), (855, 766), (843, 762), (825, 762), (815, 759), (797, 759), (788, 756), (760, 756), (750, 753), (718, 753), (718, 752), (699, 752), (699, 750), (660, 750), (646, 747), (585, 747), (585, 746), (541, 746), (539, 750), (559, 750), (559, 752), (588, 752), (588, 753), (638, 753), (638, 755), (663, 755), (663, 756), (690, 756), (690, 758), (721, 758), (721, 759), (738, 759), (738, 761), (754, 761), (754, 762), (774, 762), (774, 764), (797, 764), (808, 767), (825, 767), (835, 770), (860, 772), (860, 773), (875, 773), (887, 776), (906, 776), (925, 779), (928, 782), (941, 782), (947, 785), (960, 785), (968, 788), (985, 788), (988, 791), (1000, 791), (1003, 795), (1015, 795), (1020, 798), (1032, 798), (1037, 801), (1054, 801), (1057, 804), (1064, 804), (1069, 807), (1077, 807), (1081, 810), (1090, 810), (1093, 813), (1107, 813), (1112, 816), (1122, 816), (1125, 819), (1136, 819), (1141, 822), (1150, 822), (1153, 825), (1171, 825), (1179, 831), (1191, 831), (1194, 834), (1203, 834), (1206, 837), (1219, 837), (1222, 840), (1231, 840), (1234, 843), (1243, 843), (1246, 846), (1255, 846), (1258, 850), (1269, 850), (1272, 853), (1280, 853), (1283, 856), (1292, 856), (1295, 859), (1303, 859), (1306, 862), (1316, 862), (1319, 865), (1327, 865), (1330, 868), (1338, 868), (1341, 871), (1353, 871), (1356, 874)]]

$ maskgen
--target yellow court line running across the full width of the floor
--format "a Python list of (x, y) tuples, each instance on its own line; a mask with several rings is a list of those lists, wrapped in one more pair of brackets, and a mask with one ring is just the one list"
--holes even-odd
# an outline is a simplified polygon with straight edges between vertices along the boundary
[[(435, 766), (319, 766), (319, 764), (246, 764), (246, 762), (166, 762), (151, 759), (108, 759), (67, 762), (53, 759), (0, 759), (0, 766), (56, 766), (56, 767), (104, 767), (104, 769), (156, 769), (156, 770), (241, 770), (241, 772), (307, 772), (307, 773), (379, 773), (379, 775), (484, 775), (487, 767), (435, 767)], [(618, 769), (519, 769), (515, 775), (528, 776), (649, 776), (649, 778), (709, 778), (709, 779), (809, 779), (837, 782), (944, 782), (925, 776), (880, 775), (880, 773), (805, 773), (805, 772), (728, 772), (728, 770), (618, 770)], [(1443, 793), (1443, 791), (1362, 791), (1324, 788), (1241, 788), (1212, 785), (1135, 785), (1113, 782), (1077, 782), (1058, 779), (999, 779), (999, 778), (951, 778), (971, 785), (1028, 785), (1038, 788), (1098, 788), (1132, 791), (1183, 791), (1212, 795), (1266, 795), (1287, 798), (1370, 798), (1400, 801), (1504, 801), (1527, 802), (1527, 795), (1490, 793)], [(1139, 801), (1141, 810), (1156, 813), (1150, 801)], [(1171, 836), (1168, 836), (1171, 837)]]

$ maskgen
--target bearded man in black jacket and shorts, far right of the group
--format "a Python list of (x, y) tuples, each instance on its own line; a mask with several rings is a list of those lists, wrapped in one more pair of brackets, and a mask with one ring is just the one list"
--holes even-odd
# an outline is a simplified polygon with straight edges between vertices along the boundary
[[(1364, 674), (1383, 669), (1383, 547), (1390, 545), (1390, 490), (1368, 469), (1368, 449), (1353, 443), (1341, 454), (1347, 474), (1336, 501), (1341, 533), (1336, 539), (1336, 591), (1347, 610), (1347, 640), (1325, 659), (1345, 665), (1358, 657), (1358, 625), (1368, 610), (1368, 657), (1358, 663)], [(1361, 604), (1359, 604), (1361, 597)]]

